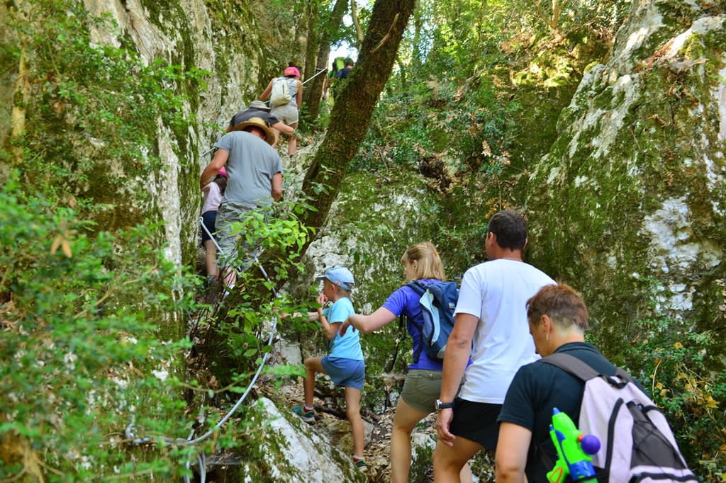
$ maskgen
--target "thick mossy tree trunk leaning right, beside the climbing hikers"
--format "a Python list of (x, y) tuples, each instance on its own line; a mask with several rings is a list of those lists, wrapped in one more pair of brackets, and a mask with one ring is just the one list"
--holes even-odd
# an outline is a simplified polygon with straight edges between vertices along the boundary
[[(358, 62), (335, 97), (330, 126), (303, 181), (303, 194), (317, 209), (303, 215), (306, 226), (319, 229), (325, 223), (348, 164), (368, 130), (378, 96), (391, 75), (414, 2), (378, 0), (373, 6)], [(326, 185), (327, 190), (319, 193), (320, 185)]]

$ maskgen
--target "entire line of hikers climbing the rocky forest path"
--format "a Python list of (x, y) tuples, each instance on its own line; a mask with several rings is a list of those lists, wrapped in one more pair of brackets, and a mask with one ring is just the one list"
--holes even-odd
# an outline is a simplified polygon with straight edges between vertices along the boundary
[[(353, 65), (352, 59), (342, 63), (325, 83), (333, 96), (340, 86), (335, 80), (346, 78)], [(282, 196), (282, 162), (274, 146), (285, 133), (288, 154), (295, 152), (301, 99), (300, 72), (287, 67), (259, 100), (232, 117), (200, 176), (206, 273), (223, 280), (226, 291), (237, 278), (230, 260), (243, 260), (238, 268), (245, 270), (257, 255), (238, 242), (235, 223)], [(697, 481), (643, 387), (584, 341), (589, 315), (582, 297), (523, 261), (523, 216), (498, 212), (484, 242), (487, 261), (464, 273), (460, 289), (446, 281), (433, 244), (408, 247), (401, 257), (407, 284), (370, 315), (354, 311), (348, 268), (317, 276), (317, 310), (295, 315), (319, 324), (327, 354), (304, 361), (304, 401), (293, 413), (315, 422), (317, 373), (343, 387), (352, 461), (365, 469), (361, 334), (399, 318), (412, 340), (412, 361), (393, 417), (392, 482), (409, 481), (411, 435), (431, 413), (437, 483), (472, 482), (468, 461), (480, 450), (494, 453), (497, 482)]]

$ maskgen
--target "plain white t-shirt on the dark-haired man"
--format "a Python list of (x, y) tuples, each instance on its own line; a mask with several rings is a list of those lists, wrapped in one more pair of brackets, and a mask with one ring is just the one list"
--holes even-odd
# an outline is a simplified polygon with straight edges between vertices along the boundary
[(529, 334), (526, 302), (550, 284), (555, 281), (546, 273), (516, 260), (500, 258), (466, 271), (454, 315), (468, 313), (479, 321), (472, 364), (459, 397), (502, 404), (517, 369), (539, 359)]

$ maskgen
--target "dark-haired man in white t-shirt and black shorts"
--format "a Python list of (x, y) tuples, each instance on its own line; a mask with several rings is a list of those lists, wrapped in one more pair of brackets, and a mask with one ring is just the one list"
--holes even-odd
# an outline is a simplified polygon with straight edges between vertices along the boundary
[(529, 335), (526, 302), (555, 281), (522, 261), (526, 244), (522, 215), (498, 212), (487, 227), (489, 261), (470, 268), (462, 279), (436, 402), (439, 442), (433, 453), (434, 482), (460, 481), (469, 458), (483, 448), (497, 448), (497, 416), (507, 389), (520, 366), (539, 358)]

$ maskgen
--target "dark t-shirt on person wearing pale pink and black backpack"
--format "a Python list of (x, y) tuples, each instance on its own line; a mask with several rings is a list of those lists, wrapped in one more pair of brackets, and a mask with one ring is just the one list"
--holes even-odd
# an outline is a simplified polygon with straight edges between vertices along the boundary
[[(599, 373), (615, 374), (615, 366), (587, 342), (569, 342), (555, 352), (574, 355)], [(547, 471), (552, 469), (544, 466), (537, 442), (553, 463), (557, 460), (557, 450), (550, 438), (552, 408), (566, 413), (577, 424), (583, 393), (584, 382), (551, 364), (537, 361), (522, 366), (515, 374), (497, 421), (513, 423), (532, 432), (525, 469), (530, 483), (546, 483)]]

